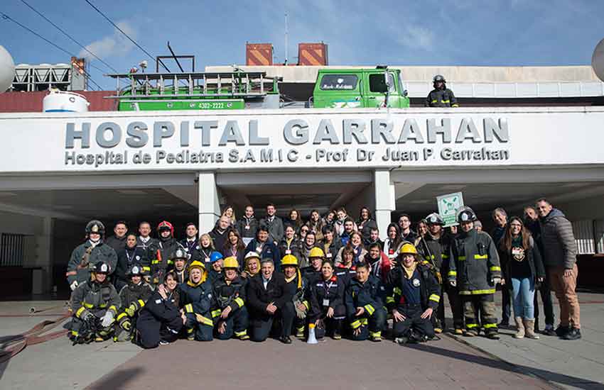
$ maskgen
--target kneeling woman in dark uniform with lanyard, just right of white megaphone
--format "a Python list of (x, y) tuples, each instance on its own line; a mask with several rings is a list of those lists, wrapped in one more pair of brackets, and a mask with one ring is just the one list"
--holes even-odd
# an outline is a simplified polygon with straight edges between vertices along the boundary
[(342, 338), (342, 321), (346, 316), (344, 306), (344, 282), (333, 274), (333, 262), (325, 260), (321, 278), (310, 286), (310, 323), (315, 324), (316, 338), (331, 334), (333, 340)]

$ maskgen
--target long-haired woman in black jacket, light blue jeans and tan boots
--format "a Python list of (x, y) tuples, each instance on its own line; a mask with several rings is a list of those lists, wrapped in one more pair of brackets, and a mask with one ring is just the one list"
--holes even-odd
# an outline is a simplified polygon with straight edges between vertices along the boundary
[[(539, 249), (522, 219), (509, 218), (499, 245), (500, 260), (507, 284), (512, 290), (514, 320), (517, 333), (514, 338), (539, 338), (534, 333), (534, 295), (536, 284), (543, 282), (545, 269)], [(505, 280), (505, 282), (504, 282)]]

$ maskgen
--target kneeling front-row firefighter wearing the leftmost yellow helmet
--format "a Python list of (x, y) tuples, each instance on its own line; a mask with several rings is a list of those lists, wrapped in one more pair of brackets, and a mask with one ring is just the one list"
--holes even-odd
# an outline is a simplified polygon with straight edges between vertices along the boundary
[(180, 304), (184, 308), (187, 321), (188, 340), (211, 341), (214, 322), (212, 321), (212, 284), (207, 280), (207, 272), (202, 262), (189, 264), (189, 279), (179, 284)]

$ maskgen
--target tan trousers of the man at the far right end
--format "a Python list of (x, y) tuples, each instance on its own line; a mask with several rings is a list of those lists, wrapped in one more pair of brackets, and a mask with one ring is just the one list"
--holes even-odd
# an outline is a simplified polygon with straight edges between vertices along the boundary
[(575, 292), (578, 273), (577, 264), (571, 269), (569, 277), (564, 277), (563, 267), (550, 268), (549, 280), (560, 303), (560, 325), (581, 329), (581, 310)]

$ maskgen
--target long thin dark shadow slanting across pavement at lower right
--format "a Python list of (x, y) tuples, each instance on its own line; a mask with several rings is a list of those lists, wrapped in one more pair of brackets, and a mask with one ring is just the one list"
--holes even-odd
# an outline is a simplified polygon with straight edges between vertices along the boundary
[(566, 386), (574, 386), (578, 389), (585, 390), (604, 390), (604, 384), (599, 382), (590, 381), (589, 379), (583, 379), (578, 377), (571, 377), (565, 374), (559, 374), (558, 372), (551, 372), (546, 369), (538, 369), (534, 367), (527, 367), (520, 364), (510, 364), (503, 360), (495, 360), (490, 357), (482, 357), (476, 355), (470, 355), (465, 352), (455, 352), (452, 350), (445, 350), (443, 348), (434, 347), (431, 344), (411, 344), (406, 347), (412, 350), (421, 350), (422, 352), (430, 352), (435, 355), (444, 357), (451, 357), (452, 359), (463, 360), (464, 362), (471, 362), (474, 364), (480, 364), (486, 367), (492, 367), (496, 369), (505, 369), (509, 372), (517, 372), (519, 374), (533, 374), (536, 377), (545, 379), (546, 381), (554, 382), (554, 384), (563, 384)]

